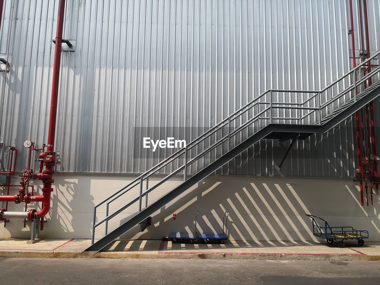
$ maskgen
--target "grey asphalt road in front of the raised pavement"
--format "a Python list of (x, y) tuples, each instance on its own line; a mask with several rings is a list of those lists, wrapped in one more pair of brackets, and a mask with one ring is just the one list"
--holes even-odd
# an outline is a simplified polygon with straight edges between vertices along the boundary
[(380, 261), (0, 258), (0, 266), (9, 285), (380, 283)]

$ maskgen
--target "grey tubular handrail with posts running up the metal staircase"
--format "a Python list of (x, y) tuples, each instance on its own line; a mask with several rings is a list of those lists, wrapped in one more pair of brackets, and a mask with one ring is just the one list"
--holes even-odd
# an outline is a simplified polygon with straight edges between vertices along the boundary
[[(147, 195), (148, 195), (148, 193), (150, 193), (152, 190), (156, 189), (158, 186), (162, 185), (168, 179), (170, 179), (174, 175), (180, 173), (181, 171), (184, 171), (184, 180), (185, 180), (187, 177), (187, 168), (190, 165), (192, 165), (192, 163), (195, 163), (196, 161), (199, 160), (199, 158), (203, 157), (207, 153), (216, 149), (218, 146), (223, 145), (223, 143), (225, 141), (228, 141), (228, 149), (230, 149), (231, 138), (234, 137), (235, 135), (237, 135), (237, 133), (240, 133), (241, 131), (243, 131), (248, 126), (252, 125), (253, 123), (256, 123), (258, 120), (266, 120), (266, 121), (269, 120), (269, 123), (273, 123), (273, 120), (285, 120), (285, 121), (286, 120), (297, 120), (299, 123), (301, 123), (302, 120), (305, 120), (307, 117), (310, 117), (310, 116), (312, 116), (313, 113), (317, 112), (317, 115), (315, 116), (315, 123), (322, 124), (322, 122), (325, 122), (325, 118), (326, 119), (329, 118), (329, 114), (330, 114), (330, 113), (327, 113), (327, 111), (326, 111), (325, 117), (322, 118), (322, 110), (323, 109), (328, 108), (329, 105), (332, 105), (338, 99), (342, 98), (344, 95), (349, 94), (353, 90), (354, 90), (353, 98), (349, 98), (344, 103), (347, 103), (347, 102), (351, 103), (351, 102), (355, 101), (356, 100), (356, 89), (358, 88), (358, 86), (360, 86), (361, 84), (366, 82), (368, 79), (372, 78), (374, 75), (378, 74), (380, 71), (380, 67), (374, 68), (372, 71), (367, 73), (366, 76), (363, 76), (362, 78), (360, 78), (358, 80), (356, 80), (356, 75), (353, 76), (352, 83), (349, 86), (345, 87), (342, 91), (338, 92), (337, 95), (332, 96), (329, 100), (327, 100), (324, 103), (321, 102), (322, 93), (326, 92), (327, 90), (332, 88), (334, 85), (336, 85), (337, 83), (339, 83), (343, 79), (347, 78), (347, 76), (350, 76), (351, 74), (355, 74), (355, 72), (359, 68), (366, 66), (366, 63), (370, 62), (370, 60), (376, 58), (378, 55), (380, 55), (380, 51), (375, 53), (369, 59), (360, 63), (355, 68), (351, 69), (350, 71), (348, 71), (344, 75), (340, 76), (334, 82), (330, 83), (328, 86), (326, 86), (325, 88), (323, 88), (319, 91), (318, 90), (287, 90), (287, 89), (268, 89), (268, 90), (264, 91), (258, 97), (249, 101), (247, 104), (245, 104), (244, 106), (242, 106), (241, 108), (237, 109), (232, 114), (230, 114), (230, 116), (226, 117), (225, 119), (223, 119), (222, 121), (220, 121), (219, 123), (214, 125), (214, 127), (210, 128), (209, 130), (205, 131), (203, 134), (197, 136), (195, 139), (190, 141), (187, 144), (186, 148), (184, 147), (184, 148), (178, 149), (176, 152), (169, 155), (167, 158), (161, 160), (159, 163), (157, 163), (155, 166), (150, 168), (148, 171), (142, 173), (141, 175), (136, 177), (136, 179), (132, 180), (130, 183), (128, 183), (124, 187), (120, 188), (118, 191), (116, 191), (115, 193), (113, 193), (112, 195), (108, 196), (106, 199), (103, 199), (103, 201), (101, 201), (100, 203), (95, 205), (94, 206), (94, 212), (93, 212), (92, 243), (94, 241), (95, 228), (97, 226), (101, 225), (103, 222), (106, 222), (106, 233), (107, 233), (108, 220), (110, 220), (111, 218), (113, 218), (114, 216), (116, 216), (117, 214), (119, 214), (120, 212), (125, 210), (127, 207), (131, 206), (133, 203), (135, 203), (136, 201), (139, 201), (139, 200), (140, 200), (139, 211), (141, 211), (141, 199), (143, 196), (146, 197), (146, 206), (147, 206)], [(338, 86), (338, 88), (339, 88), (339, 86)], [(275, 102), (273, 100), (273, 93), (289, 93), (290, 95), (292, 93), (301, 93), (301, 94), (313, 94), (313, 95), (308, 97), (306, 100), (301, 101), (301, 102)], [(269, 95), (269, 97), (270, 97), (269, 101), (268, 100), (266, 100), (264, 102), (260, 101), (260, 99), (263, 98), (265, 95)], [(311, 106), (305, 106), (305, 104), (308, 103), (309, 101), (311, 101), (313, 98), (316, 98), (317, 106), (312, 106), (312, 107)], [(263, 110), (260, 110), (261, 109), (260, 106), (262, 106), (262, 105), (267, 105), (267, 107), (264, 108)], [(258, 113), (255, 114), (255, 116), (248, 119), (246, 122), (241, 123), (240, 126), (238, 126), (236, 128), (232, 128), (232, 123), (235, 122), (235, 120), (237, 118), (243, 116), (246, 112), (253, 110), (253, 108), (255, 108), (256, 106), (259, 106), (260, 109), (259, 109)], [(332, 106), (332, 108), (334, 109), (334, 106)], [(339, 108), (339, 106), (335, 109), (338, 109), (338, 108)], [(292, 110), (293, 110), (293, 112), (298, 113), (298, 115), (296, 115), (296, 116), (290, 115), (287, 117), (287, 116), (285, 116), (285, 113), (284, 113), (284, 117), (280, 117), (280, 116), (274, 117), (273, 116), (273, 110), (274, 109), (290, 110), (290, 112), (292, 112)], [(303, 111), (308, 111), (308, 112), (306, 112), (306, 114), (304, 114), (304, 113), (302, 113)], [(269, 112), (269, 117), (268, 117), (268, 115), (266, 115), (266, 113), (268, 113), (268, 112)], [(304, 114), (304, 115), (302, 115), (302, 114)], [(193, 158), (187, 157), (189, 150), (198, 146), (201, 142), (205, 141), (207, 138), (214, 135), (218, 131), (223, 130), (223, 128), (226, 126), (228, 127), (228, 134), (227, 135), (225, 135), (225, 136), (222, 135), (222, 138), (220, 138), (217, 141), (215, 141), (214, 143), (212, 143), (209, 147), (206, 147), (206, 149), (204, 149), (203, 151), (201, 151), (200, 153), (195, 155), (195, 157), (193, 157)], [(165, 176), (159, 182), (155, 183), (153, 186), (148, 187), (148, 178), (150, 176), (157, 173), (162, 168), (173, 163), (174, 161), (176, 161), (177, 159), (179, 159), (182, 156), (183, 156), (183, 159), (185, 160), (184, 164), (182, 164), (179, 168), (177, 168), (176, 170), (172, 171), (170, 174)], [(146, 181), (146, 190), (143, 192), (142, 191), (142, 182), (144, 182), (144, 181)], [(128, 191), (130, 191), (131, 189), (133, 189), (134, 187), (138, 186), (138, 185), (140, 185), (139, 195), (136, 196), (136, 198), (129, 201), (124, 206), (117, 209), (112, 214), (109, 214), (109, 204), (112, 203), (113, 201), (115, 201), (116, 199), (118, 199), (120, 196), (127, 193)], [(100, 222), (96, 223), (97, 208), (100, 207), (101, 205), (103, 205), (104, 203), (106, 203), (106, 217), (104, 219), (102, 219)]]

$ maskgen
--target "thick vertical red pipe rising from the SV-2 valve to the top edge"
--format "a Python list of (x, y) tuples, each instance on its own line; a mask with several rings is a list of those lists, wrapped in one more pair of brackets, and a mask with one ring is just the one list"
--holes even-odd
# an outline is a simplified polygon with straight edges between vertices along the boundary
[(55, 52), (54, 52), (54, 67), (53, 67), (53, 82), (51, 91), (49, 133), (47, 136), (47, 152), (54, 152), (55, 139), (55, 123), (57, 121), (57, 101), (59, 87), (59, 73), (61, 65), (61, 49), (62, 49), (62, 31), (63, 19), (65, 13), (65, 0), (59, 0), (57, 33), (55, 36)]

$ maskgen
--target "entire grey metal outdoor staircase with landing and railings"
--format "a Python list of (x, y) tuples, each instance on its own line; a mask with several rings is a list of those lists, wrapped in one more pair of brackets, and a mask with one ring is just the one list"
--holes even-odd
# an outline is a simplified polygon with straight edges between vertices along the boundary
[[(366, 64), (378, 58), (379, 55), (380, 52), (377, 52), (319, 91), (273, 89), (265, 91), (188, 143), (186, 148), (179, 149), (97, 204), (93, 213), (92, 245), (85, 251), (99, 252), (138, 224), (145, 225), (142, 226), (144, 229), (147, 225), (146, 221), (161, 207), (261, 139), (305, 139), (314, 133), (325, 133), (336, 126), (380, 95), (380, 66), (365, 76), (359, 75), (362, 74), (360, 71), (366, 68)], [(363, 86), (369, 79), (373, 83), (364, 89)], [(282, 100), (279, 94), (282, 94)], [(305, 94), (307, 98), (304, 98)], [(258, 131), (252, 131), (252, 127)], [(176, 168), (176, 170), (154, 185), (149, 185), (149, 177), (165, 170), (166, 166), (172, 167), (171, 169)], [(194, 174), (187, 177), (189, 173)], [(180, 185), (163, 193), (163, 196), (155, 201), (148, 200), (149, 193), (165, 185), (165, 182), (177, 174), (184, 176), (184, 181)], [(160, 187), (159, 194), (162, 193), (162, 189), (163, 187)], [(135, 198), (109, 214), (110, 203), (125, 193), (133, 191), (137, 192)], [(143, 198), (145, 198), (144, 206), (142, 206)], [(109, 220), (118, 215), (120, 217), (122, 211), (133, 209), (137, 203), (136, 214), (108, 233)], [(97, 209), (104, 205), (106, 217), (97, 222)], [(121, 218), (118, 221), (120, 220)], [(95, 229), (100, 225), (105, 226), (105, 236), (94, 243)]]

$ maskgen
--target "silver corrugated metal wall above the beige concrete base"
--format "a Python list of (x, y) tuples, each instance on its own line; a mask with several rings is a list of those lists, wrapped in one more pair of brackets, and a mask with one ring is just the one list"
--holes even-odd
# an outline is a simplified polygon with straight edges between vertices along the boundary
[[(5, 2), (0, 53), (12, 10)], [(368, 3), (378, 50), (379, 2)], [(22, 149), (20, 170), (22, 142), (47, 138), (57, 6), (15, 1), (11, 71), (0, 74), (0, 140)], [(62, 52), (62, 170), (139, 173), (154, 163), (134, 158), (139, 127), (204, 130), (268, 88), (321, 89), (350, 70), (348, 11), (347, 0), (67, 0), (63, 35), (76, 40), (76, 51)], [(230, 173), (353, 177), (355, 148), (348, 119), (298, 142), (281, 173), (275, 165), (286, 146), (269, 140), (237, 158)]]

